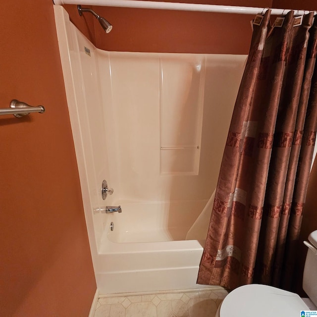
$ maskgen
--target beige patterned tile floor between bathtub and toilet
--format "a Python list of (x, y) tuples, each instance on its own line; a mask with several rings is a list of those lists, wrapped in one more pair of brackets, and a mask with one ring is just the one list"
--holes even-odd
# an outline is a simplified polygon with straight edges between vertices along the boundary
[(99, 298), (95, 317), (214, 317), (225, 290)]

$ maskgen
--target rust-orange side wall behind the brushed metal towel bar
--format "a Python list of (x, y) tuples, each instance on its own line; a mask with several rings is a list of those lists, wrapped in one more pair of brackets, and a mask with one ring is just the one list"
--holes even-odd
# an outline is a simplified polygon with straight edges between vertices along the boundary
[(0, 316), (87, 317), (96, 290), (52, 0), (2, 1)]

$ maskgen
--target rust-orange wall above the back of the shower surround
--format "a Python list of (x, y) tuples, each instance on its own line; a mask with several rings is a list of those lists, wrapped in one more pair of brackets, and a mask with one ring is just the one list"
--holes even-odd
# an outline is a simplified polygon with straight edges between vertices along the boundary
[[(177, 2), (177, 1), (176, 1)], [(178, 1), (204, 4), (271, 6), (271, 0), (193, 0)], [(74, 5), (66, 10), (82, 32), (82, 17)], [(107, 51), (167, 53), (231, 53), (249, 52), (253, 15), (208, 12), (170, 11), (93, 6), (113, 29), (106, 34), (94, 18), (98, 48)], [(84, 13), (84, 15), (91, 15)]]

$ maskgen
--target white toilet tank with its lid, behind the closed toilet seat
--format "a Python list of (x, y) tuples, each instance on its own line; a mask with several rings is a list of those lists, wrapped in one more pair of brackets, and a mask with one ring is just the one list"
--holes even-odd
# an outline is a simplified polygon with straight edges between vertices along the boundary
[(308, 247), (308, 252), (303, 274), (303, 289), (317, 306), (317, 230), (309, 235), (308, 242), (305, 241), (304, 244)]

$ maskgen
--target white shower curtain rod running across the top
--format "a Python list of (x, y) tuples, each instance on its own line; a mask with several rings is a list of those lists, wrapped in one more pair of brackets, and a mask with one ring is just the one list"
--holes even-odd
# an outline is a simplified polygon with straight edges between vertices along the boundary
[[(101, 5), (129, 8), (163, 9), (163, 10), (183, 10), (183, 11), (203, 11), (216, 13), (238, 13), (238, 14), (262, 14), (268, 8), (257, 8), (248, 6), (180, 3), (180, 2), (161, 2), (144, 0), (54, 0), (55, 4), (82, 4), (82, 5)], [(271, 9), (271, 14), (283, 15), (291, 9)], [(308, 10), (294, 10), (295, 15), (308, 14)], [(315, 14), (317, 12), (315, 11)]]

